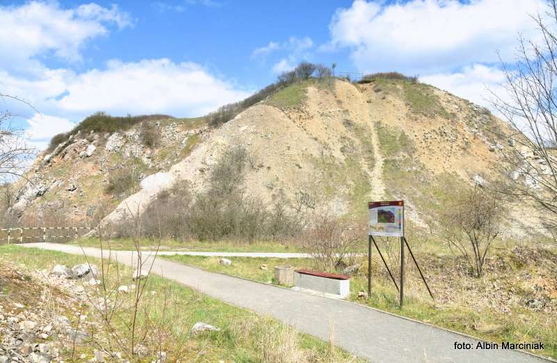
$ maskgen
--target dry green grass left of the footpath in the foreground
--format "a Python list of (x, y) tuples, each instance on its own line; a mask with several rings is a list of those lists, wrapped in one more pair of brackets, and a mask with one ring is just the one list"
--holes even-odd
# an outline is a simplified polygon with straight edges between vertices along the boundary
[[(20, 263), (29, 270), (49, 269), (55, 263), (74, 265), (85, 261), (83, 256), (16, 246), (0, 247), (0, 257)], [(96, 259), (89, 261), (101, 266)], [(103, 283), (98, 286), (99, 292), (88, 288), (91, 296), (84, 305), (89, 319), (97, 319), (102, 327), (91, 332), (91, 341), (78, 344), (76, 352), (87, 357), (91, 357), (93, 348), (99, 347), (121, 350), (125, 357), (130, 355), (134, 293), (116, 295), (114, 291), (120, 284), (133, 284), (130, 279), (132, 270), (107, 263), (105, 261), (102, 268), (105, 275)], [(105, 295), (103, 291), (111, 295)], [(145, 281), (143, 291), (145, 298), (139, 302), (135, 337), (136, 343), (147, 348), (148, 357), (142, 360), (128, 357), (132, 362), (156, 360), (161, 350), (167, 353), (168, 362), (363, 362), (340, 349), (336, 349), (332, 356), (326, 342), (301, 334), (272, 318), (261, 318), (155, 275)], [(96, 300), (98, 298), (100, 300)], [(36, 299), (31, 297), (29, 301)], [(102, 304), (110, 308), (100, 309)], [(106, 314), (111, 317), (111, 329), (103, 322)], [(221, 331), (190, 334), (191, 326), (198, 321), (220, 327)], [(67, 356), (70, 354), (71, 350), (65, 352)]]

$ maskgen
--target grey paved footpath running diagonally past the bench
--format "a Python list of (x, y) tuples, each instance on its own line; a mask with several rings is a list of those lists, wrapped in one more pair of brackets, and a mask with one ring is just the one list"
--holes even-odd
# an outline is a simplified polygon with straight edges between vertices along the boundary
[[(101, 257), (96, 248), (32, 243), (68, 254)], [(108, 252), (104, 252), (104, 257)], [(134, 252), (111, 251), (110, 258), (133, 265)], [(146, 260), (146, 254), (142, 254)], [(287, 288), (229, 277), (181, 263), (155, 259), (152, 272), (224, 302), (261, 315), (274, 316), (302, 332), (327, 341), (334, 321), (336, 345), (375, 363), (515, 363), (548, 362), (516, 350), (455, 350), (454, 343), (476, 347), (477, 340), (461, 334), (369, 309), (353, 302), (322, 298)], [(210, 323), (210, 322), (209, 322)]]

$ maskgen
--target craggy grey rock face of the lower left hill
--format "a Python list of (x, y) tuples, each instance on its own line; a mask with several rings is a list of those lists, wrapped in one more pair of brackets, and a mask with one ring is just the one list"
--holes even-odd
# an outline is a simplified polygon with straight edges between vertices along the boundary
[(13, 210), (21, 223), (33, 225), (54, 215), (56, 222), (81, 223), (100, 209), (110, 210), (139, 187), (130, 180), (112, 180), (130, 185), (108, 191), (115, 174), (134, 173), (139, 182), (164, 171), (188, 153), (207, 130), (206, 126), (175, 119), (151, 122), (157, 134), (151, 146), (143, 141), (143, 125), (139, 124), (112, 134), (77, 132), (51, 152), (39, 155), (27, 180), (17, 183), (19, 192)]

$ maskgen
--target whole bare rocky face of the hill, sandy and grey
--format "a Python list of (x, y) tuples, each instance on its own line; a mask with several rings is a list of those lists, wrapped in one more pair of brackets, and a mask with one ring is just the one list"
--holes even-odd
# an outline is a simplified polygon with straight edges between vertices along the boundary
[[(426, 226), (456, 188), (485, 185), (499, 173), (501, 150), (515, 143), (510, 127), (486, 109), (432, 86), (387, 79), (306, 82), (219, 128), (164, 120), (156, 133), (156, 146), (146, 146), (141, 125), (74, 135), (36, 160), (15, 208), (22, 219), (52, 208), (72, 221), (105, 208), (105, 221), (116, 221), (126, 210), (141, 213), (179, 180), (203, 190), (223, 150), (242, 145), (250, 155), (247, 192), (267, 201), (304, 196), (362, 218), (368, 200), (405, 199), (410, 219)], [(139, 183), (107, 192), (121, 171), (139, 173)]]

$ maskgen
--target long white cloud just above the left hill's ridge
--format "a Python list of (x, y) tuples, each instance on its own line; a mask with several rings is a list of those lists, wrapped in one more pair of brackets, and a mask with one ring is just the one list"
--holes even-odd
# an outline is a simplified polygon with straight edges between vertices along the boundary
[(72, 77), (65, 91), (51, 102), (73, 114), (107, 111), (174, 116), (200, 116), (250, 94), (210, 75), (201, 65), (168, 59), (110, 61), (104, 70)]

